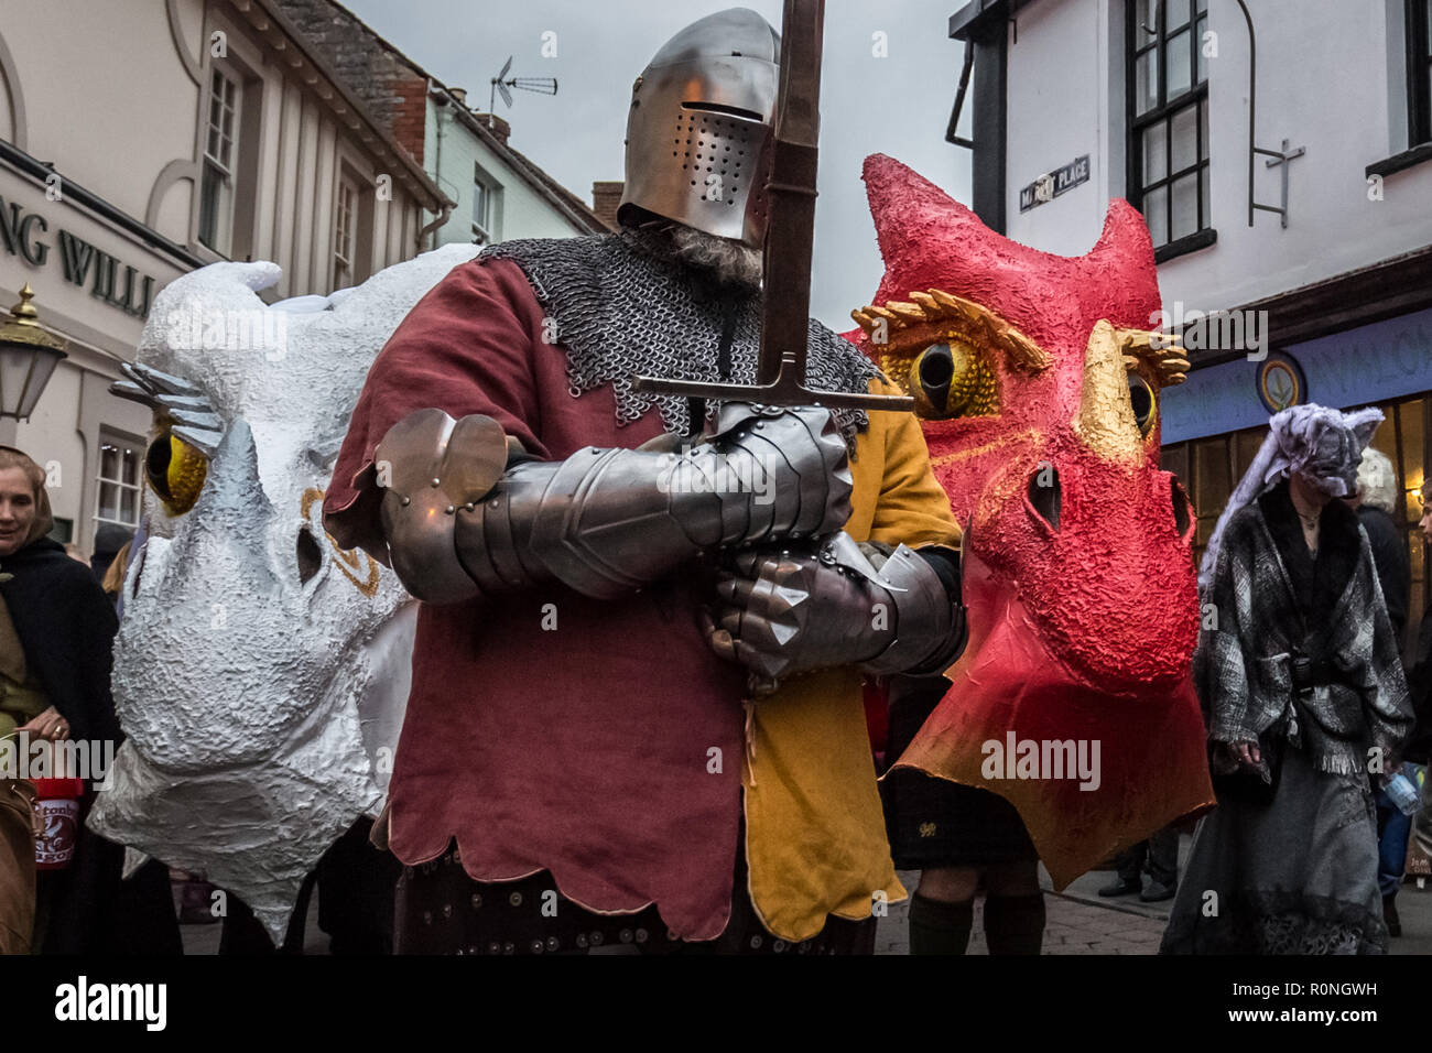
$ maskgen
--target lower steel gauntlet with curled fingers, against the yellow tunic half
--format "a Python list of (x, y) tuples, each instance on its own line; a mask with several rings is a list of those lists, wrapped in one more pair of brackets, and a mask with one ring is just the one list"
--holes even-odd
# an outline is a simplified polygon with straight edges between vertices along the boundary
[[(792, 673), (848, 665), (874, 675), (944, 672), (965, 642), (958, 556), (922, 553), (902, 544), (876, 570), (843, 532), (815, 552), (743, 552), (737, 573), (717, 586), (707, 636), (765, 691)], [(949, 583), (931, 553), (945, 560)]]

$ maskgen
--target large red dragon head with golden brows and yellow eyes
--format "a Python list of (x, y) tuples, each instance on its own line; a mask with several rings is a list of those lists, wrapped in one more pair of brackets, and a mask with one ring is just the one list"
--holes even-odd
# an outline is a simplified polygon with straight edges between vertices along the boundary
[[(1148, 330), (1157, 271), (1128, 203), (1087, 255), (1055, 256), (891, 158), (865, 182), (885, 277), (851, 337), (915, 395), (965, 529), (969, 645), (901, 764), (1010, 798), (1063, 885), (1211, 799), (1189, 683), (1194, 516), (1158, 467), (1158, 391), (1189, 362)], [(992, 781), (981, 745), (1010, 732), (1098, 739), (1097, 791)]]

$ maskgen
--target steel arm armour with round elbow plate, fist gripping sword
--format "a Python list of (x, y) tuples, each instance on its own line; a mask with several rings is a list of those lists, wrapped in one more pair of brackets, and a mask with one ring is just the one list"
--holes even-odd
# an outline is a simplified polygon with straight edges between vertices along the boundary
[(430, 603), (548, 582), (620, 596), (702, 552), (825, 534), (851, 514), (845, 441), (816, 408), (727, 404), (680, 453), (589, 447), (511, 467), (490, 417), (420, 410), (375, 463), (392, 569)]

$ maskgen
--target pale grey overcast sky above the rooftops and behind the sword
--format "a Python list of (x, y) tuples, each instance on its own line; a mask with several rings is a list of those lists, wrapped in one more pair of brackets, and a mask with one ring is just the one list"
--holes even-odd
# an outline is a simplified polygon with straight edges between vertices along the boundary
[[(517, 92), (498, 115), (511, 143), (591, 203), (591, 183), (621, 179), (632, 82), (677, 30), (720, 0), (342, 0), (398, 50), (487, 109), (491, 77), (557, 77), (556, 97)], [(821, 86), (821, 198), (811, 312), (838, 331), (882, 272), (861, 182), (868, 153), (889, 153), (969, 201), (969, 152), (945, 142), (964, 44), (949, 16), (964, 0), (832, 0)], [(746, 4), (779, 27), (780, 0)], [(556, 57), (543, 57), (543, 34)], [(884, 33), (888, 57), (876, 57)], [(968, 106), (961, 132), (968, 132)]]

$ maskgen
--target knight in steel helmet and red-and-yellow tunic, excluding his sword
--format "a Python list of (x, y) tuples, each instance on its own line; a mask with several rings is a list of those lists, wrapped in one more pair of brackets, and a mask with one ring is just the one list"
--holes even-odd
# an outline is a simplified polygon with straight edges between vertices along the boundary
[[(677, 33), (621, 231), (485, 249), (368, 375), (325, 521), (422, 600), (374, 832), (400, 953), (869, 951), (904, 895), (862, 676), (964, 639), (918, 423), (632, 383), (755, 381), (779, 46), (743, 9)], [(898, 393), (808, 347), (811, 387)]]

